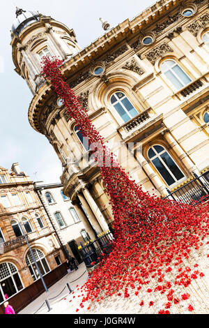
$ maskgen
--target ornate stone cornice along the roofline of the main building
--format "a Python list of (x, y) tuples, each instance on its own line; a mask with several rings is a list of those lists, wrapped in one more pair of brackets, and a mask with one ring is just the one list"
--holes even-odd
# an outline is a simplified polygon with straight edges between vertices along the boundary
[[(162, 34), (165, 29), (166, 33), (168, 33), (170, 25), (173, 29), (173, 24), (178, 24), (182, 20), (187, 20), (187, 18), (180, 14), (180, 7), (186, 6), (187, 2), (192, 1), (157, 1), (157, 3), (144, 10), (144, 12), (137, 17), (134, 17), (132, 20), (125, 20), (121, 24), (118, 24), (116, 27), (100, 36), (100, 38), (91, 43), (91, 45), (88, 45), (73, 57), (66, 60), (63, 63), (62, 71), (63, 75), (67, 78), (68, 83), (72, 86), (72, 89), (76, 88), (78, 84), (93, 77), (90, 73), (90, 68), (96, 63), (96, 61), (102, 60), (105, 63), (105, 60), (107, 61), (108, 58), (113, 58), (115, 56), (114, 54), (120, 49), (121, 52), (118, 52), (118, 56), (123, 54), (124, 51), (133, 50), (133, 42), (134, 40), (137, 40), (137, 38), (139, 39), (141, 31), (154, 31), (157, 35), (157, 33)], [(193, 2), (196, 6), (200, 6), (202, 4), (204, 5), (206, 0), (194, 0)], [(170, 15), (171, 11), (172, 15)], [(176, 18), (174, 18), (174, 16)], [(158, 24), (158, 22), (160, 22), (160, 24)], [(163, 27), (161, 27), (162, 24)], [(159, 45), (159, 47), (162, 46), (163, 45)], [(165, 49), (165, 47), (167, 48)], [(168, 45), (164, 46), (163, 50), (169, 51)], [(152, 48), (150, 48), (150, 52), (151, 51)], [(170, 51), (172, 51), (172, 49)], [(156, 56), (158, 55), (158, 52)], [(149, 54), (146, 54), (146, 57), (148, 57), (148, 55)], [(152, 55), (153, 53), (150, 54), (150, 56)], [(102, 57), (104, 58), (102, 59)], [(111, 60), (107, 61), (107, 66), (111, 64)], [(73, 75), (75, 76), (74, 80), (72, 80)], [(40, 133), (44, 132), (39, 126), (38, 121), (40, 120), (40, 117), (38, 117), (38, 115), (40, 113), (38, 114), (37, 111), (39, 107), (42, 107), (45, 98), (47, 98), (47, 95), (50, 93), (52, 93), (52, 86), (50, 86), (50, 84), (47, 85), (47, 83), (43, 84), (33, 97), (29, 107), (29, 122), (31, 126)], [(36, 113), (34, 113), (34, 110), (36, 110)]]

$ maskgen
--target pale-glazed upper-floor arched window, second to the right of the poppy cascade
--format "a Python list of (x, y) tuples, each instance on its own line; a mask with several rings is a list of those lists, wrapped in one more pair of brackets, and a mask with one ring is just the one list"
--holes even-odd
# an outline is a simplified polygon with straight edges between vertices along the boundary
[(174, 60), (163, 61), (160, 65), (162, 73), (169, 79), (176, 89), (181, 89), (192, 80), (185, 71)]

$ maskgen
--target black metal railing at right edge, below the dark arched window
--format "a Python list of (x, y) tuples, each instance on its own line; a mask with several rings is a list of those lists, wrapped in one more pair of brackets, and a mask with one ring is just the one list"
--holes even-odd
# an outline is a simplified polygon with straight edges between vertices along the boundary
[(167, 188), (169, 195), (164, 199), (169, 198), (184, 204), (199, 204), (209, 200), (209, 170), (199, 176), (193, 172), (193, 175), (194, 179), (176, 189), (176, 191), (171, 193)]

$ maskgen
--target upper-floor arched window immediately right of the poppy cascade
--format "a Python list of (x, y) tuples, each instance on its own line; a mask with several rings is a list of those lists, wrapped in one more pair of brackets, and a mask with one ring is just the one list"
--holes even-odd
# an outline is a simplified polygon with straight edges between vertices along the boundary
[(113, 94), (110, 101), (124, 122), (129, 121), (139, 114), (134, 105), (128, 100), (127, 96), (121, 91)]

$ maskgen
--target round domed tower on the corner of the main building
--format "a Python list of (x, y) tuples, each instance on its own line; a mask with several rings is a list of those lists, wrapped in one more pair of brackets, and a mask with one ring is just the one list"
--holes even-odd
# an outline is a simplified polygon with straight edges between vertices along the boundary
[(80, 50), (73, 29), (52, 17), (17, 7), (11, 36), (15, 71), (26, 80), (33, 95), (44, 82), (40, 77), (43, 56), (66, 60)]

